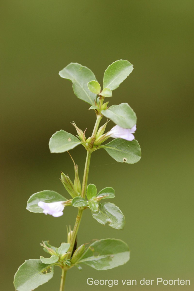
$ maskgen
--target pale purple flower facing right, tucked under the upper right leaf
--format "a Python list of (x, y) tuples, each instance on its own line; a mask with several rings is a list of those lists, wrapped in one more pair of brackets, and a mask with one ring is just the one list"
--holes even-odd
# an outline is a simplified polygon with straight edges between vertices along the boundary
[(120, 137), (121, 139), (126, 139), (127, 141), (134, 140), (135, 136), (133, 133), (136, 131), (136, 125), (134, 125), (131, 129), (130, 128), (123, 128), (119, 125), (115, 125), (109, 132), (109, 137)]

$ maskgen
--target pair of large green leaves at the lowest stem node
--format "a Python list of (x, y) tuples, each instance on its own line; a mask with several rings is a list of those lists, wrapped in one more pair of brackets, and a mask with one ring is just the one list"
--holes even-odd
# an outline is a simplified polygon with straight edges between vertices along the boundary
[[(129, 247), (122, 240), (101, 239), (92, 243), (75, 265), (83, 263), (96, 270), (108, 270), (124, 265), (129, 255)], [(14, 276), (15, 289), (31, 291), (48, 282), (53, 277), (54, 265), (36, 259), (26, 260)]]

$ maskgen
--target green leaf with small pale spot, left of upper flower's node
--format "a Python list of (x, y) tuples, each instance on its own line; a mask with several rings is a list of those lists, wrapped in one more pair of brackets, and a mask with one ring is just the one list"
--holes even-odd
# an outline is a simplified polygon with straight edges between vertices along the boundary
[(67, 152), (79, 145), (81, 141), (73, 134), (63, 129), (55, 132), (49, 140), (49, 149), (51, 153)]

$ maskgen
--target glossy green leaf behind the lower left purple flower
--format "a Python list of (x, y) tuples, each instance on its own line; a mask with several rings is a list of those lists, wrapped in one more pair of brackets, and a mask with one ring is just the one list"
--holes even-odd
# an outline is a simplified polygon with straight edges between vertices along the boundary
[(30, 196), (27, 201), (26, 209), (34, 213), (42, 213), (43, 209), (38, 206), (38, 202), (52, 203), (58, 201), (66, 201), (67, 199), (55, 191), (44, 190)]

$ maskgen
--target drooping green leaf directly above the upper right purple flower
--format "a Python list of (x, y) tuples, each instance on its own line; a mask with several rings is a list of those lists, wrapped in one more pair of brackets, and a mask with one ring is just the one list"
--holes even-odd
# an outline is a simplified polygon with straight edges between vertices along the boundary
[(135, 112), (127, 103), (112, 105), (101, 112), (105, 117), (110, 118), (115, 124), (123, 128), (132, 128), (137, 121)]

